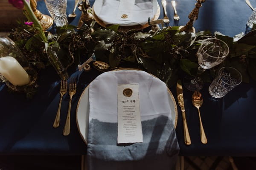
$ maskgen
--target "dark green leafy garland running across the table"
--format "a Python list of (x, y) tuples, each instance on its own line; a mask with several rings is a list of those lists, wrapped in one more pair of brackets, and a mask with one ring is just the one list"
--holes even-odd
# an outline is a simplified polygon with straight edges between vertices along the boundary
[[(205, 82), (211, 82), (218, 69), (231, 66), (238, 69), (243, 82), (250, 77), (256, 80), (256, 31), (234, 38), (219, 32), (198, 33), (180, 32), (178, 27), (167, 27), (154, 31), (119, 31), (118, 25), (100, 27), (95, 21), (84, 25), (78, 31), (76, 26), (57, 27), (56, 33), (46, 32), (49, 46), (58, 54), (65, 68), (80, 64), (81, 60), (96, 54), (96, 60), (107, 62), (111, 68), (141, 68), (154, 74), (171, 87), (177, 79), (186, 75), (195, 76), (198, 68), (196, 53), (202, 40), (216, 37), (227, 43), (230, 54), (221, 65), (207, 70), (203, 75)], [(45, 68), (49, 65), (44, 43), (32, 26), (21, 25), (10, 33), (31, 65)], [(240, 39), (239, 39), (240, 38)], [(234, 41), (239, 39), (238, 41)], [(38, 50), (39, 49), (39, 50)]]

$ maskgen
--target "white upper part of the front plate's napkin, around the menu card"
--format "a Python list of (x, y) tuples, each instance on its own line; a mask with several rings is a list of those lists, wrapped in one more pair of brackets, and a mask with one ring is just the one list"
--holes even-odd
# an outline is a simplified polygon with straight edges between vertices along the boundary
[(99, 75), (89, 86), (91, 119), (117, 122), (117, 85), (139, 84), (141, 121), (172, 114), (166, 84), (145, 71), (109, 71)]

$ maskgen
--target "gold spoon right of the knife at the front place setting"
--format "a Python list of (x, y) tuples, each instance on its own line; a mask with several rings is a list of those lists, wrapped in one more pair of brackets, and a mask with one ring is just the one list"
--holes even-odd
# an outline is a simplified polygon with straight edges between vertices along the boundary
[(203, 124), (201, 121), (201, 115), (200, 115), (200, 110), (199, 110), (199, 108), (203, 105), (203, 97), (199, 91), (195, 91), (194, 94), (192, 95), (192, 104), (198, 109), (199, 121), (200, 121), (201, 142), (203, 144), (206, 144), (207, 138), (204, 133), (204, 127), (203, 127)]

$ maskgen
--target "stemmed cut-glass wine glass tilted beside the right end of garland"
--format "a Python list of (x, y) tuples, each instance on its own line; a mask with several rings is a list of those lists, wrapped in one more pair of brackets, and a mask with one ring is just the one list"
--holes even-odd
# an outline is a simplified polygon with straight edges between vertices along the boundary
[(229, 54), (229, 48), (225, 42), (217, 38), (208, 38), (201, 42), (198, 48), (198, 73), (194, 79), (184, 80), (184, 86), (190, 91), (200, 91), (204, 82), (199, 77), (205, 69), (220, 64)]

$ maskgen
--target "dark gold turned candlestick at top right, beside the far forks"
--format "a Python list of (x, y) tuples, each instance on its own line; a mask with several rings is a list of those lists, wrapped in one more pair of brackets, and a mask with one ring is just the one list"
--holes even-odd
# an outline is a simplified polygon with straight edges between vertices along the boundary
[(195, 8), (189, 14), (189, 22), (186, 24), (186, 26), (181, 26), (180, 31), (195, 32), (195, 28), (193, 27), (193, 22), (198, 19), (199, 8), (202, 6), (202, 3), (204, 2), (205, 0), (197, 0), (197, 3), (195, 4)]

